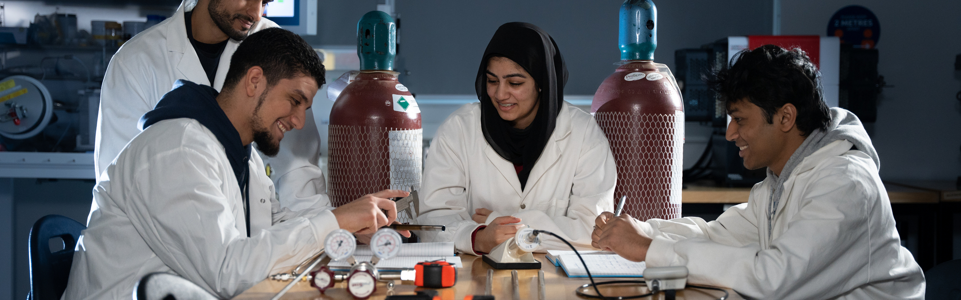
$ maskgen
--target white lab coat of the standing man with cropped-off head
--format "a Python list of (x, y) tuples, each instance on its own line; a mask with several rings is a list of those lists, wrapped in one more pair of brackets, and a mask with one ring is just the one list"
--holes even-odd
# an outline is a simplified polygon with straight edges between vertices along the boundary
[[(160, 98), (173, 88), (174, 82), (186, 79), (218, 91), (230, 68), (239, 41), (229, 39), (214, 82), (209, 82), (204, 67), (186, 37), (185, 12), (192, 10), (185, 0), (173, 16), (160, 22), (124, 43), (113, 55), (100, 93), (100, 113), (97, 118), (97, 137), (94, 164), (99, 176), (113, 162), (120, 150), (140, 133), (137, 121), (154, 109)], [(260, 18), (251, 31), (278, 27)], [(288, 132), (281, 140), (281, 151), (269, 159), (279, 189), (279, 199), (285, 208), (302, 210), (320, 202), (330, 205), (324, 174), (317, 159), (320, 155), (320, 136), (308, 110), (302, 130)]]

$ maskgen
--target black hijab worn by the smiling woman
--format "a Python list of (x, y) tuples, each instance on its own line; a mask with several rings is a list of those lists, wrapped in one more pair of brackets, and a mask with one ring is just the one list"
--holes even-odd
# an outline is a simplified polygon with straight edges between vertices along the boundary
[[(492, 57), (505, 57), (521, 65), (540, 88), (537, 115), (528, 128), (513, 128), (497, 113), (487, 95), (487, 62)], [(501, 25), (484, 50), (475, 83), (480, 99), (480, 129), (498, 155), (523, 165), (521, 172), (517, 173), (522, 189), (528, 183), (530, 169), (554, 133), (566, 83), (567, 67), (554, 38), (533, 24), (511, 22)]]

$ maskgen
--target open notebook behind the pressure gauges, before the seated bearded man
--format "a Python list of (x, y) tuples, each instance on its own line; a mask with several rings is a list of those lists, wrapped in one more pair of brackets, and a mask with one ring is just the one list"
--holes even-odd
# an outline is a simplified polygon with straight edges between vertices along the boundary
[[(368, 245), (357, 245), (354, 259), (357, 262), (370, 262), (374, 252)], [(460, 258), (454, 254), (454, 242), (417, 242), (406, 243), (401, 247), (397, 257), (377, 263), (378, 269), (413, 269), (417, 263), (431, 261), (447, 261), (456, 267), (462, 267)], [(331, 262), (327, 267), (334, 271), (347, 271), (351, 264), (346, 261)]]

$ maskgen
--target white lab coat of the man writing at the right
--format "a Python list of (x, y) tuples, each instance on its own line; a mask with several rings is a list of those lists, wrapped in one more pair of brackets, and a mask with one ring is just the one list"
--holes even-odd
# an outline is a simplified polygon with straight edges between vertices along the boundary
[(654, 237), (648, 267), (685, 265), (689, 283), (731, 287), (747, 298), (923, 299), (924, 275), (900, 246), (875, 162), (852, 145), (834, 140), (794, 168), (771, 238), (771, 176), (716, 221), (641, 223)]

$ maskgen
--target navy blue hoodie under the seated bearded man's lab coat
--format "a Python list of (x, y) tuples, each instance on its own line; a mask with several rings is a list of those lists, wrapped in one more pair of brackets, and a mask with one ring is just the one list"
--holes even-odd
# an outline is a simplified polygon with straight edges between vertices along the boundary
[[(240, 140), (240, 134), (234, 128), (234, 123), (231, 123), (227, 113), (224, 113), (224, 110), (217, 104), (217, 94), (217, 90), (213, 87), (197, 85), (183, 79), (178, 80), (174, 83), (174, 88), (160, 98), (160, 102), (157, 103), (153, 111), (144, 113), (140, 117), (140, 130), (147, 129), (150, 125), (162, 120), (182, 117), (195, 119), (201, 125), (207, 127), (213, 133), (213, 136), (217, 137), (220, 144), (224, 146), (227, 160), (231, 162), (231, 167), (234, 169), (237, 186), (240, 187), (244, 195), (246, 207), (249, 197), (247, 184), (250, 182), (250, 176), (248, 176), (250, 168), (247, 166), (247, 162), (250, 160), (251, 153), (253, 153), (251, 152), (252, 147), (251, 144), (244, 146), (243, 141)], [(247, 208), (247, 211), (250, 211), (249, 208)], [(247, 226), (249, 227), (249, 213), (247, 217)], [(250, 228), (247, 228), (247, 233), (249, 235)]]

